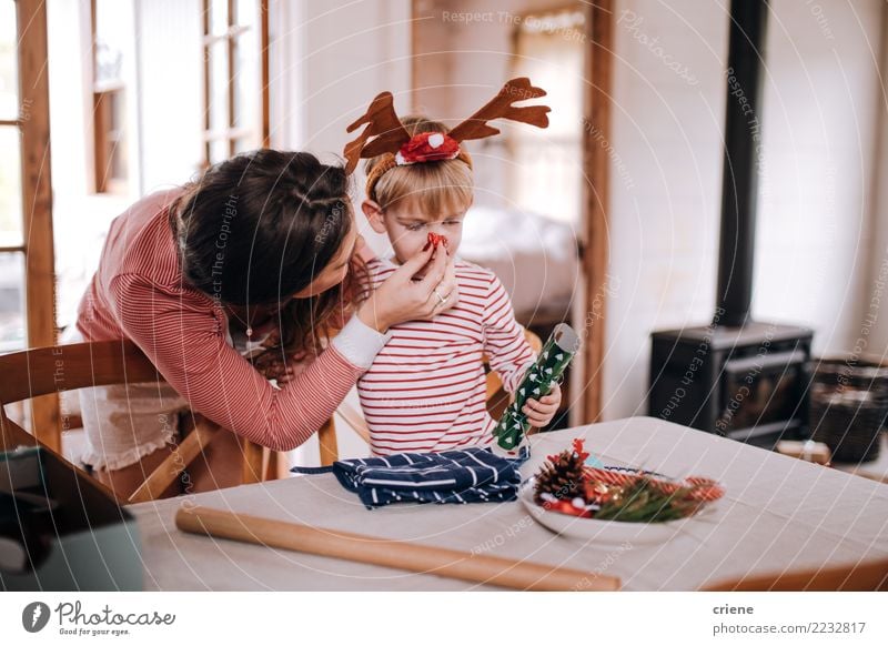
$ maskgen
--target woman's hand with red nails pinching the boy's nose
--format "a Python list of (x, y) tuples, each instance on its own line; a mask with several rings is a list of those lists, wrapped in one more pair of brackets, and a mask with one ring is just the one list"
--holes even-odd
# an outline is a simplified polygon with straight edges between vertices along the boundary
[[(441, 248), (421, 251), (376, 287), (357, 309), (366, 325), (385, 332), (406, 321), (427, 321), (453, 307), (460, 300), (453, 258)], [(425, 269), (422, 280), (413, 276)]]

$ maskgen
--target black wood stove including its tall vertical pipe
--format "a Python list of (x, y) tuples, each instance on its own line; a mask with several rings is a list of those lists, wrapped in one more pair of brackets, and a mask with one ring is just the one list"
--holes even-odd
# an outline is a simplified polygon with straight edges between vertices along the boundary
[(733, 0), (718, 292), (712, 324), (654, 332), (649, 414), (771, 448), (806, 436), (814, 332), (753, 321), (767, 3)]

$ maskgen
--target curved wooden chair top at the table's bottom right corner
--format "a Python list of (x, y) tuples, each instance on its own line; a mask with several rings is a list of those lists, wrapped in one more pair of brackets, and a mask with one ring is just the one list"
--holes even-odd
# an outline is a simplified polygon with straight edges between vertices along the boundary
[(745, 576), (717, 583), (706, 592), (888, 592), (888, 559), (821, 569)]

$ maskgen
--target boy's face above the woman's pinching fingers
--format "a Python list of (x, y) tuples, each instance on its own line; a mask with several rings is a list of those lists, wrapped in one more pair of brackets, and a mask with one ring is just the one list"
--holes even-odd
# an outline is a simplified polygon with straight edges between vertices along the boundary
[(428, 233), (447, 239), (447, 251), (455, 255), (463, 238), (463, 220), (467, 209), (453, 213), (425, 213), (420, 204), (402, 201), (385, 211), (379, 204), (366, 201), (364, 213), (376, 233), (385, 233), (395, 251), (397, 262), (403, 263), (416, 255), (428, 242)]

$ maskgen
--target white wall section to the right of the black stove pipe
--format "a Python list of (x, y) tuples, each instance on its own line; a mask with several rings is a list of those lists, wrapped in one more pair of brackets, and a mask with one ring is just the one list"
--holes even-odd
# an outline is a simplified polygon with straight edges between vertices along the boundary
[(780, 0), (770, 22), (754, 314), (811, 325), (815, 352), (836, 353), (870, 282), (884, 2), (816, 6)]

